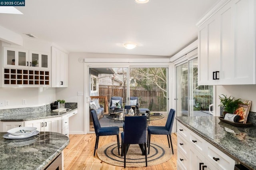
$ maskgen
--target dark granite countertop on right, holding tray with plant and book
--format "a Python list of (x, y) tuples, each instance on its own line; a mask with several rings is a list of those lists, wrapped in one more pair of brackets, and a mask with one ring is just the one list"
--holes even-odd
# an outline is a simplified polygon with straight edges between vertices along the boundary
[(256, 169), (256, 127), (234, 127), (212, 116), (176, 119), (233, 159)]

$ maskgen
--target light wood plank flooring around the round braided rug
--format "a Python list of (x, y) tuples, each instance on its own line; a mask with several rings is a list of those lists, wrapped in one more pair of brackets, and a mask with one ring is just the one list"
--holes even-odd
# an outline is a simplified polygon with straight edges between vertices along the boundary
[[(113, 166), (102, 162), (94, 153), (95, 134), (70, 134), (70, 143), (64, 149), (64, 169), (65, 170), (124, 170), (124, 167)], [(152, 135), (152, 142), (159, 142), (168, 146), (166, 135)], [(116, 136), (100, 136), (98, 148), (116, 142)], [(177, 136), (172, 134), (172, 144), (174, 155), (170, 160), (156, 166), (125, 168), (126, 170), (176, 170), (177, 160)]]

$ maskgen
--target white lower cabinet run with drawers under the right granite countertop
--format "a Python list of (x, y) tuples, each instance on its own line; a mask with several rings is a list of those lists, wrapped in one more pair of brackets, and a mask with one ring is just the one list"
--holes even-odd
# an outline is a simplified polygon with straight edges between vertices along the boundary
[[(198, 136), (180, 122), (177, 124), (177, 167), (181, 170), (230, 170), (235, 160)], [(186, 132), (186, 133), (184, 133)]]

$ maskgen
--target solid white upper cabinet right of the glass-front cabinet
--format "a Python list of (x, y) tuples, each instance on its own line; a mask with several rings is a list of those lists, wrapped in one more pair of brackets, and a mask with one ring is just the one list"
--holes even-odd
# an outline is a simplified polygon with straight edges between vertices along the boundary
[(68, 54), (52, 47), (52, 87), (68, 87)]

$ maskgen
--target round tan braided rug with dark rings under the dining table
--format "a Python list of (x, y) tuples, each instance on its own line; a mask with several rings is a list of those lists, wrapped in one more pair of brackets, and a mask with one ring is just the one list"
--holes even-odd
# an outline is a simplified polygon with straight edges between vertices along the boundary
[[(147, 148), (148, 152), (148, 148)], [(114, 165), (114, 166), (124, 166), (124, 156), (118, 155), (116, 142), (109, 143), (97, 150), (98, 157), (100, 160)], [(148, 154), (148, 166), (154, 166), (162, 164), (168, 161), (172, 157), (171, 148), (168, 146), (151, 143), (150, 144), (150, 154)], [(145, 156), (142, 155), (140, 147), (138, 144), (132, 144), (126, 154), (126, 166), (127, 167), (143, 167), (146, 166)]]

